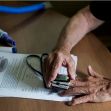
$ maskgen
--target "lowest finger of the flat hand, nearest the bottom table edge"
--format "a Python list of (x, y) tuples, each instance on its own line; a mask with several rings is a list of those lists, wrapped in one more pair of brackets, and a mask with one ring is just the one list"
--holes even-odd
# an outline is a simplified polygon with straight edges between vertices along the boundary
[(86, 103), (86, 102), (93, 102), (93, 100), (94, 100), (94, 94), (90, 94), (79, 98), (73, 98), (72, 101), (67, 103), (67, 105), (71, 106), (71, 105), (77, 105), (77, 104)]

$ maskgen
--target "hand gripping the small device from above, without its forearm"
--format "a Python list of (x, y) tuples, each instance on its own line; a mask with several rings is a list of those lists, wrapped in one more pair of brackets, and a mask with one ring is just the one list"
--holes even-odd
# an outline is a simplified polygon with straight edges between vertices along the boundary
[(65, 50), (56, 50), (49, 54), (45, 60), (45, 80), (48, 87), (51, 81), (56, 79), (61, 66), (67, 67), (68, 76), (70, 79), (75, 79), (75, 67), (73, 59), (69, 52)]

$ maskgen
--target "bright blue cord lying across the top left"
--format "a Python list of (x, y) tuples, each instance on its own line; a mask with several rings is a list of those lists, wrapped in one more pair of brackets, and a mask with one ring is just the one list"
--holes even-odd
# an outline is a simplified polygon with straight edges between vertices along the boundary
[(44, 3), (34, 4), (30, 6), (22, 6), (22, 7), (10, 7), (10, 6), (0, 5), (0, 12), (10, 13), (10, 14), (23, 14), (33, 11), (39, 11), (41, 9), (45, 9)]

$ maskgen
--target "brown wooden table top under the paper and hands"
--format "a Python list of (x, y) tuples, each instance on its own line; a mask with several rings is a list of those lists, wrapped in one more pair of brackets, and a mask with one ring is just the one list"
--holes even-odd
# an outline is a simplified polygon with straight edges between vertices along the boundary
[[(10, 20), (10, 21), (7, 21)], [(50, 52), (68, 18), (54, 11), (41, 14), (2, 15), (1, 27), (17, 42), (20, 53)], [(78, 73), (87, 74), (87, 66), (111, 78), (111, 55), (93, 34), (88, 34), (72, 50), (77, 55)], [(85, 103), (72, 107), (62, 102), (0, 98), (0, 111), (110, 111), (111, 102)]]

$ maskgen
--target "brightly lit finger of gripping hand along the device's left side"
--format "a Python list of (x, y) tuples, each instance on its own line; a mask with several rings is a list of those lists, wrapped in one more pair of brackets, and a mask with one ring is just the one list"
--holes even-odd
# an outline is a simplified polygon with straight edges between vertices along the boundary
[(50, 71), (49, 82), (56, 79), (56, 76), (59, 72), (60, 67), (62, 66), (62, 59), (57, 57), (52, 63), (52, 69)]

